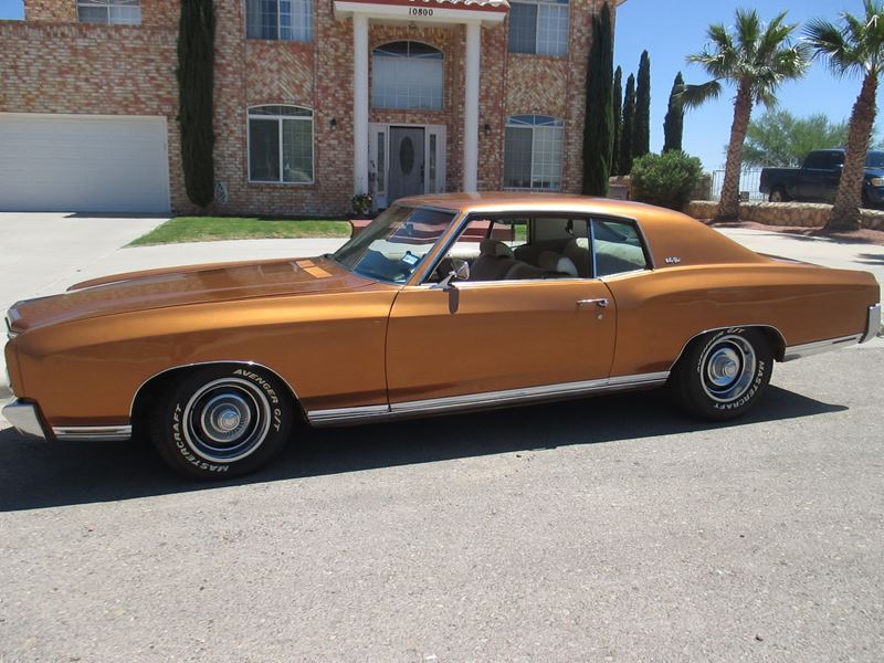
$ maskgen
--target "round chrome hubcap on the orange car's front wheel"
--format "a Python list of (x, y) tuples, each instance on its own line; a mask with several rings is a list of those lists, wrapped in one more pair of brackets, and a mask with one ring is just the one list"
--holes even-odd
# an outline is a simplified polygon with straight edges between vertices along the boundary
[(260, 387), (239, 378), (200, 388), (183, 410), (188, 448), (213, 463), (232, 463), (253, 453), (270, 431), (271, 407)]

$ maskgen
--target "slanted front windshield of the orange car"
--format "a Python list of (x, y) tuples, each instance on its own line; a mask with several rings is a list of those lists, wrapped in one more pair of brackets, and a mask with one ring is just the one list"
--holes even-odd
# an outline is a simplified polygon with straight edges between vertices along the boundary
[(367, 278), (406, 283), (456, 212), (392, 206), (338, 249), (334, 259)]

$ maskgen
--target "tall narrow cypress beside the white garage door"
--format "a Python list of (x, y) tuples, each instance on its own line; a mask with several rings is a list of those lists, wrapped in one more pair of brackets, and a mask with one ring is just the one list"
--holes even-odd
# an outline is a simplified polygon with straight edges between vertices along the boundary
[(187, 197), (201, 208), (214, 198), (214, 11), (212, 0), (181, 0), (178, 25), (178, 120)]

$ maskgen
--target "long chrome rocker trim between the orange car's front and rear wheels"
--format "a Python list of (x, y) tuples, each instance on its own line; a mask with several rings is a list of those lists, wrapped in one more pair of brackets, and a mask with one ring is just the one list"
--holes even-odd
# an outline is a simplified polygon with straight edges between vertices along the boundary
[(541, 387), (525, 387), (522, 389), (506, 389), (503, 391), (486, 391), (484, 393), (466, 393), (463, 396), (404, 401), (401, 403), (392, 403), (389, 407), (368, 406), (361, 408), (340, 408), (336, 410), (315, 410), (307, 413), (307, 420), (313, 425), (322, 427), (380, 421), (400, 417), (417, 417), (419, 414), (432, 414), (456, 410), (503, 408), (522, 402), (572, 398), (623, 389), (656, 387), (663, 385), (669, 377), (670, 371), (662, 371), (635, 376), (617, 376), (613, 378), (585, 380), (581, 382), (544, 385)]

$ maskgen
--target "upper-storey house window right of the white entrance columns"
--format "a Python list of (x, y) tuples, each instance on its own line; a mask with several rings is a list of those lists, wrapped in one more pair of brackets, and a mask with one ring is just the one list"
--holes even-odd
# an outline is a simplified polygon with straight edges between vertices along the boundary
[(568, 0), (512, 2), (509, 52), (540, 55), (568, 53)]

